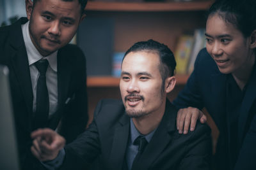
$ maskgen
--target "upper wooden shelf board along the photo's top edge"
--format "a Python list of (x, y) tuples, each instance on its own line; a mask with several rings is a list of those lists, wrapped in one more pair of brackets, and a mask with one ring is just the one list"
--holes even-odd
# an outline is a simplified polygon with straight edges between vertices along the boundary
[(124, 3), (88, 1), (86, 11), (200, 11), (207, 10), (212, 4), (208, 1), (183, 1), (166, 3)]

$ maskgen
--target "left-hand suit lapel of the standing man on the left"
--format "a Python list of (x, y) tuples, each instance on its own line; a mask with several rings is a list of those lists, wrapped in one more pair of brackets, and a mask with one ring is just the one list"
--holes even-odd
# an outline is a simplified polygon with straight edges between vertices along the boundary
[[(12, 59), (12, 66), (13, 66), (15, 76), (19, 82), (22, 95), (24, 96), (26, 108), (29, 113), (28, 117), (29, 117), (29, 120), (31, 120), (32, 113), (33, 113), (33, 90), (31, 85), (28, 55), (26, 52), (26, 47), (24, 45), (22, 31), (20, 29), (21, 22), (22, 21), (19, 20), (19, 22), (17, 22), (12, 27), (13, 34), (10, 36), (10, 43), (11, 43), (10, 57)], [(22, 115), (22, 117), (24, 117), (24, 115)]]

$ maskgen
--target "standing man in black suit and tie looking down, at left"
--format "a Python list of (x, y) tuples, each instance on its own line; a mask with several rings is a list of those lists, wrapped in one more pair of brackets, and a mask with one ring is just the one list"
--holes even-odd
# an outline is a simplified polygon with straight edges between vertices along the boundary
[[(84, 18), (86, 2), (26, 0), (28, 18), (0, 29), (0, 63), (10, 69), (22, 169), (42, 167), (30, 151), (30, 134), (38, 127), (58, 127), (68, 143), (86, 128), (85, 57), (77, 46), (68, 45)], [(46, 64), (44, 74), (40, 62)]]

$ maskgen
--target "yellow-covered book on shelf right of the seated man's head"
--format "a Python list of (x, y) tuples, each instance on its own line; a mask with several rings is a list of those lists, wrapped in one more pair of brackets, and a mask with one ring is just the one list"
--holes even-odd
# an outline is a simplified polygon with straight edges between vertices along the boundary
[(186, 74), (189, 62), (189, 55), (193, 46), (193, 35), (183, 34), (178, 39), (177, 48), (174, 56), (177, 62), (176, 73)]

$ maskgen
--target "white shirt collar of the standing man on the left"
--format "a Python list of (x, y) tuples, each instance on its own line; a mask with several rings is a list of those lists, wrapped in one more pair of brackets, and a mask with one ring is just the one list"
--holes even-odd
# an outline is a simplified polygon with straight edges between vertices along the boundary
[(40, 59), (47, 59), (49, 62), (50, 67), (57, 72), (57, 53), (58, 50), (50, 55), (43, 57), (38, 50), (36, 49), (35, 45), (32, 43), (32, 40), (29, 36), (29, 21), (26, 24), (21, 25), (22, 28), (22, 35), (24, 39), (24, 43), (26, 46), (26, 51), (28, 54), (28, 62), (29, 66), (34, 64)]

